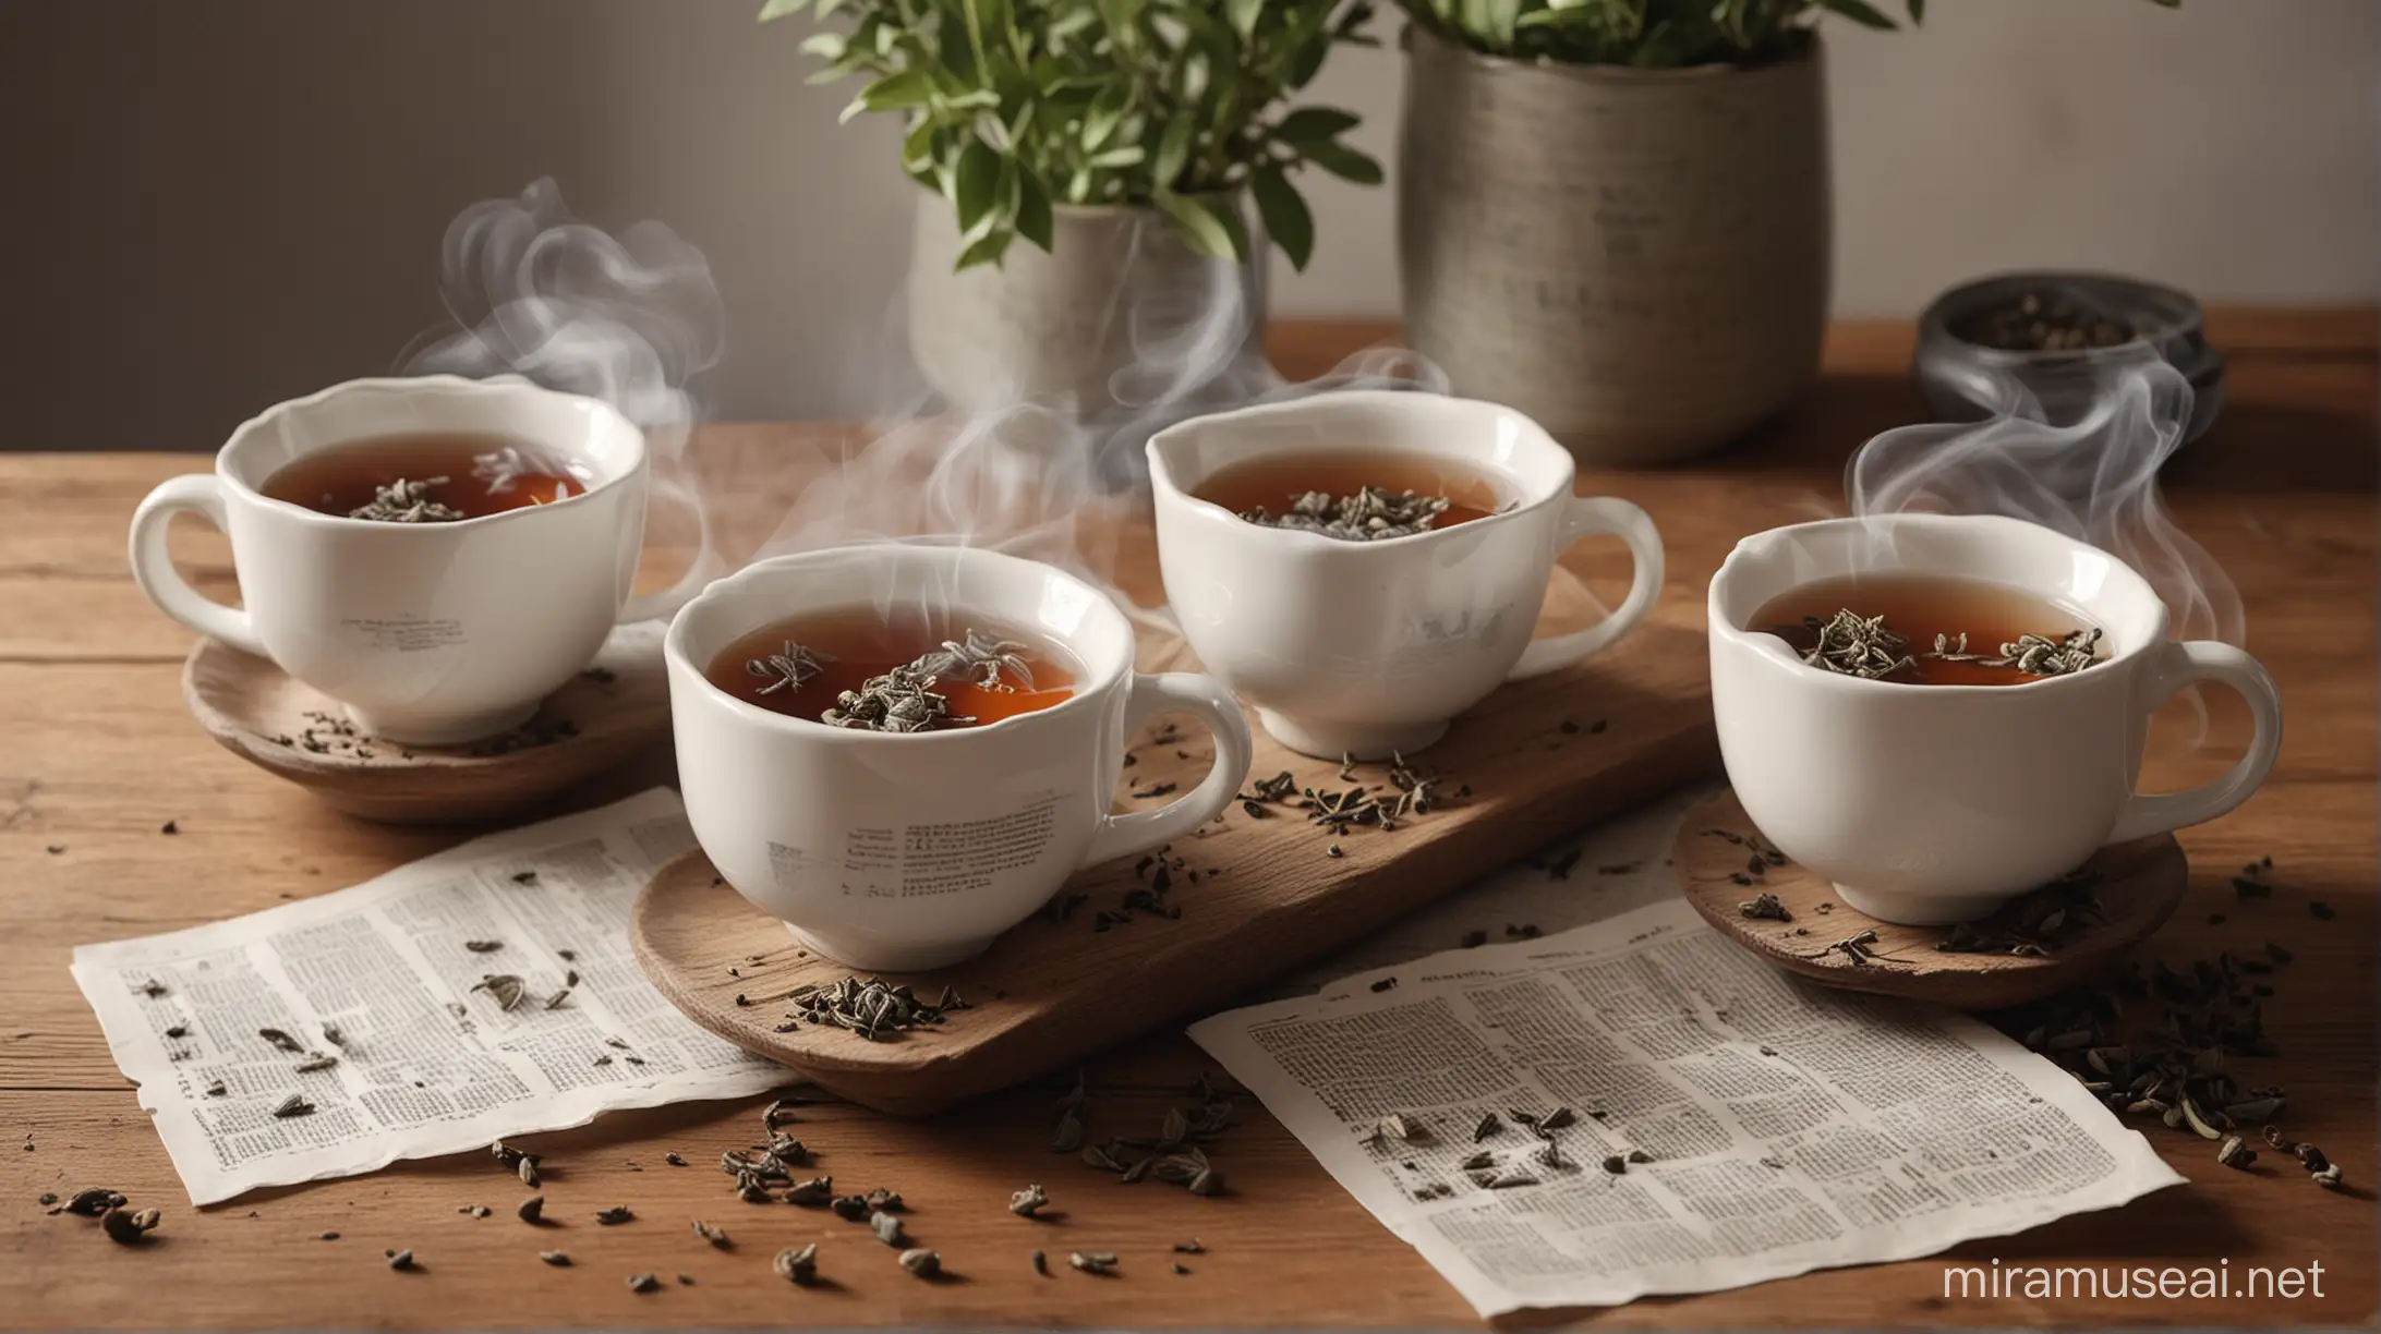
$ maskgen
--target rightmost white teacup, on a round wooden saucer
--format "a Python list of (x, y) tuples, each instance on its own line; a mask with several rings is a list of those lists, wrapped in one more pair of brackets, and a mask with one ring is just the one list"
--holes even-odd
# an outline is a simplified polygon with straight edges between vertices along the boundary
[[(2091, 617), (2107, 660), (2019, 686), (1914, 686), (1807, 667), (1748, 629), (1788, 588), (1855, 574), (2021, 588)], [(2167, 605), (2141, 574), (2021, 519), (1895, 515), (1755, 534), (1712, 576), (1710, 638), (1719, 750), (1745, 815), (1886, 922), (1969, 922), (2105, 843), (2214, 819), (2257, 791), (2281, 748), (2281, 698), (2255, 657), (2167, 641)], [(2150, 715), (2193, 681), (2248, 700), (2248, 755), (2202, 788), (2141, 796)]]

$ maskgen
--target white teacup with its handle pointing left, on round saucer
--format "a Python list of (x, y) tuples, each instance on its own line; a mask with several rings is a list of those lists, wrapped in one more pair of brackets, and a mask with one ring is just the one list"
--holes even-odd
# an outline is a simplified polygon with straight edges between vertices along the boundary
[[(588, 469), (567, 500), (445, 524), (381, 524), (264, 495), (302, 455), (410, 434), (524, 441)], [(274, 660), (371, 736), (440, 746), (526, 722), (586, 669), (614, 624), (686, 591), (631, 598), (645, 538), (645, 436), (593, 398), (521, 379), (360, 379), (264, 410), (212, 474), (140, 500), (131, 565), (176, 622)], [(167, 555), (174, 512), (231, 536), (243, 607), (200, 596)]]

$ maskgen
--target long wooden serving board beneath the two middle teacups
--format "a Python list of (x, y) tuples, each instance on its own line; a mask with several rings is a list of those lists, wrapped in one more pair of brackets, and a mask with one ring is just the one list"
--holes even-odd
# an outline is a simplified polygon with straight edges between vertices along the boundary
[[(1136, 743), (1124, 777), (1131, 791), (1188, 788), (1207, 758), (1205, 736), (1164, 738), (1160, 724), (1160, 738)], [(1179, 917), (1131, 912), (1098, 929), (1100, 915), (1145, 891), (1157, 867), (1088, 867), (1052, 900), (1083, 896), (1067, 917), (1045, 910), (943, 972), (888, 974), (924, 1000), (952, 986), (971, 1003), (940, 1027), (893, 1041), (812, 1024), (776, 1031), (795, 986), (850, 970), (798, 946), (783, 922), (719, 881), (702, 853), (655, 877), (629, 939), (655, 986), (705, 1029), (855, 1103), (931, 1112), (1221, 1005), (1564, 831), (1710, 774), (1719, 746), (1702, 631), (1652, 619), (1581, 667), (1505, 686), (1410, 765), (1443, 774), (1445, 805), (1395, 829), (1333, 836), (1293, 805), (1262, 805), (1262, 817), (1226, 808), (1164, 860), (1164, 900)], [(1283, 769), (1300, 788), (1350, 786), (1338, 765), (1257, 731), (1243, 791)], [(1357, 765), (1355, 777), (1386, 788), (1388, 767)], [(1464, 786), (1469, 796), (1455, 796)], [(1167, 796), (1140, 805), (1157, 800)]]

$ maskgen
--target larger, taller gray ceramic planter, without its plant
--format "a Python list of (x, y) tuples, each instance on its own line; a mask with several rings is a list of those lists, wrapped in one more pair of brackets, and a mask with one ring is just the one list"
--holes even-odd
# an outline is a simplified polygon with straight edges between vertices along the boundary
[(1521, 64), (1412, 26), (1405, 48), (1405, 326), (1455, 393), (1519, 407), (1586, 462), (1662, 462), (1817, 376), (1817, 43), (1674, 71)]

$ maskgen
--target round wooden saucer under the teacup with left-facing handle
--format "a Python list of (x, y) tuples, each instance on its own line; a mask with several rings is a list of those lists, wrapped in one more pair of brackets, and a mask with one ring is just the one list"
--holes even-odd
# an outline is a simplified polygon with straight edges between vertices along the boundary
[(662, 624), (612, 631), (521, 727), (464, 746), (398, 746), (355, 731), (338, 703), (264, 657), (200, 638), (181, 667), (190, 717), (233, 755), (348, 815), (388, 824), (512, 815), (669, 736)]

